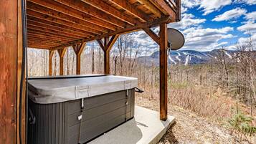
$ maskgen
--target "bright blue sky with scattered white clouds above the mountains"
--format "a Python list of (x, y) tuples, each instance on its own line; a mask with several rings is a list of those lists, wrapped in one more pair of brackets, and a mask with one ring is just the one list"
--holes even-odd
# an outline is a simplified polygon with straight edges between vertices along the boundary
[[(256, 41), (256, 0), (181, 1), (182, 19), (168, 27), (184, 34), (186, 43), (182, 49), (236, 49), (237, 43), (247, 41), (248, 31)], [(158, 47), (143, 31), (131, 36), (144, 47), (151, 47), (151, 51)]]

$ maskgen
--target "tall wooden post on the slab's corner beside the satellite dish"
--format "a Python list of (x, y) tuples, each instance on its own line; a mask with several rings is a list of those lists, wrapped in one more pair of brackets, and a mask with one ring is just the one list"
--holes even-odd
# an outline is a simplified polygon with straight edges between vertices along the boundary
[(167, 120), (167, 24), (160, 24), (160, 120)]

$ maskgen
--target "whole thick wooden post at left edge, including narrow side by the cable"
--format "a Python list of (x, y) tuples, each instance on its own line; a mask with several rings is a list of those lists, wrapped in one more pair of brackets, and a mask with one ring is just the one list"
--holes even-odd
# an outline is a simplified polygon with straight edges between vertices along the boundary
[[(19, 125), (19, 107), (24, 114), (25, 97), (19, 99), (22, 73), (21, 1), (1, 0), (0, 9), (0, 143), (19, 143), (19, 127), (24, 142), (24, 116)], [(24, 91), (23, 91), (24, 92)], [(22, 100), (22, 105), (19, 105)]]

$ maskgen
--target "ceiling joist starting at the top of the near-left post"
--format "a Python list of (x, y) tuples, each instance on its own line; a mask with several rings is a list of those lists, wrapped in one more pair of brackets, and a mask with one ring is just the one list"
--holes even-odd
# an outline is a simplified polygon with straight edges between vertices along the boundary
[[(54, 1), (52, 1), (54, 2)], [(46, 2), (46, 0), (27, 0), (27, 9), (33, 9), (34, 11), (40, 11), (44, 14), (52, 14), (52, 16), (61, 16), (63, 19), (72, 19), (77, 21), (90, 21), (100, 27), (105, 27), (106, 29), (115, 30), (117, 27), (114, 24), (110, 24), (106, 21), (102, 21), (94, 16), (88, 14), (81, 14), (80, 11), (72, 11), (72, 9), (67, 9), (61, 4), (52, 4), (52, 2)], [(70, 18), (72, 17), (72, 18)]]

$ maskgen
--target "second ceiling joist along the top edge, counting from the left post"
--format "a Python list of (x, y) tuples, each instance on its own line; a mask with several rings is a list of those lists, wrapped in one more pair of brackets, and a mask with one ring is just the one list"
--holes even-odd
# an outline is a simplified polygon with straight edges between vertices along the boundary
[(60, 4), (64, 4), (65, 6), (69, 6), (72, 9), (76, 9), (82, 13), (88, 14), (90, 16), (94, 16), (100, 20), (108, 22), (110, 24), (114, 24), (117, 27), (124, 28), (125, 22), (120, 21), (115, 16), (110, 14), (106, 14), (104, 11), (96, 9), (95, 7), (85, 4), (82, 1), (74, 1), (74, 0), (54, 0), (59, 2)]

